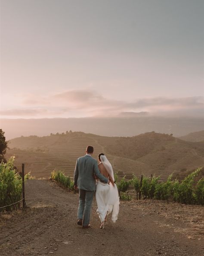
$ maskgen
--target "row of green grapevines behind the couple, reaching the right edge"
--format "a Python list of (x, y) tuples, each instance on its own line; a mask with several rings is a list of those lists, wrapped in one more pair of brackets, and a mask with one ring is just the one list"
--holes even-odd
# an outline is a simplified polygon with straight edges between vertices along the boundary
[[(135, 190), (136, 198), (154, 198), (158, 200), (173, 200), (182, 204), (197, 204), (204, 205), (204, 178), (195, 182), (195, 177), (198, 176), (201, 168), (198, 168), (191, 174), (185, 177), (182, 182), (172, 180), (172, 174), (168, 177), (167, 181), (160, 181), (159, 176), (146, 177), (142, 179), (134, 176), (133, 179), (125, 179), (125, 176), (120, 180), (117, 174), (114, 174), (115, 183), (119, 191), (121, 199), (130, 200), (129, 195), (131, 186)], [(65, 176), (61, 171), (53, 171), (51, 179), (58, 182), (60, 185), (73, 190), (73, 182), (70, 177)]]

